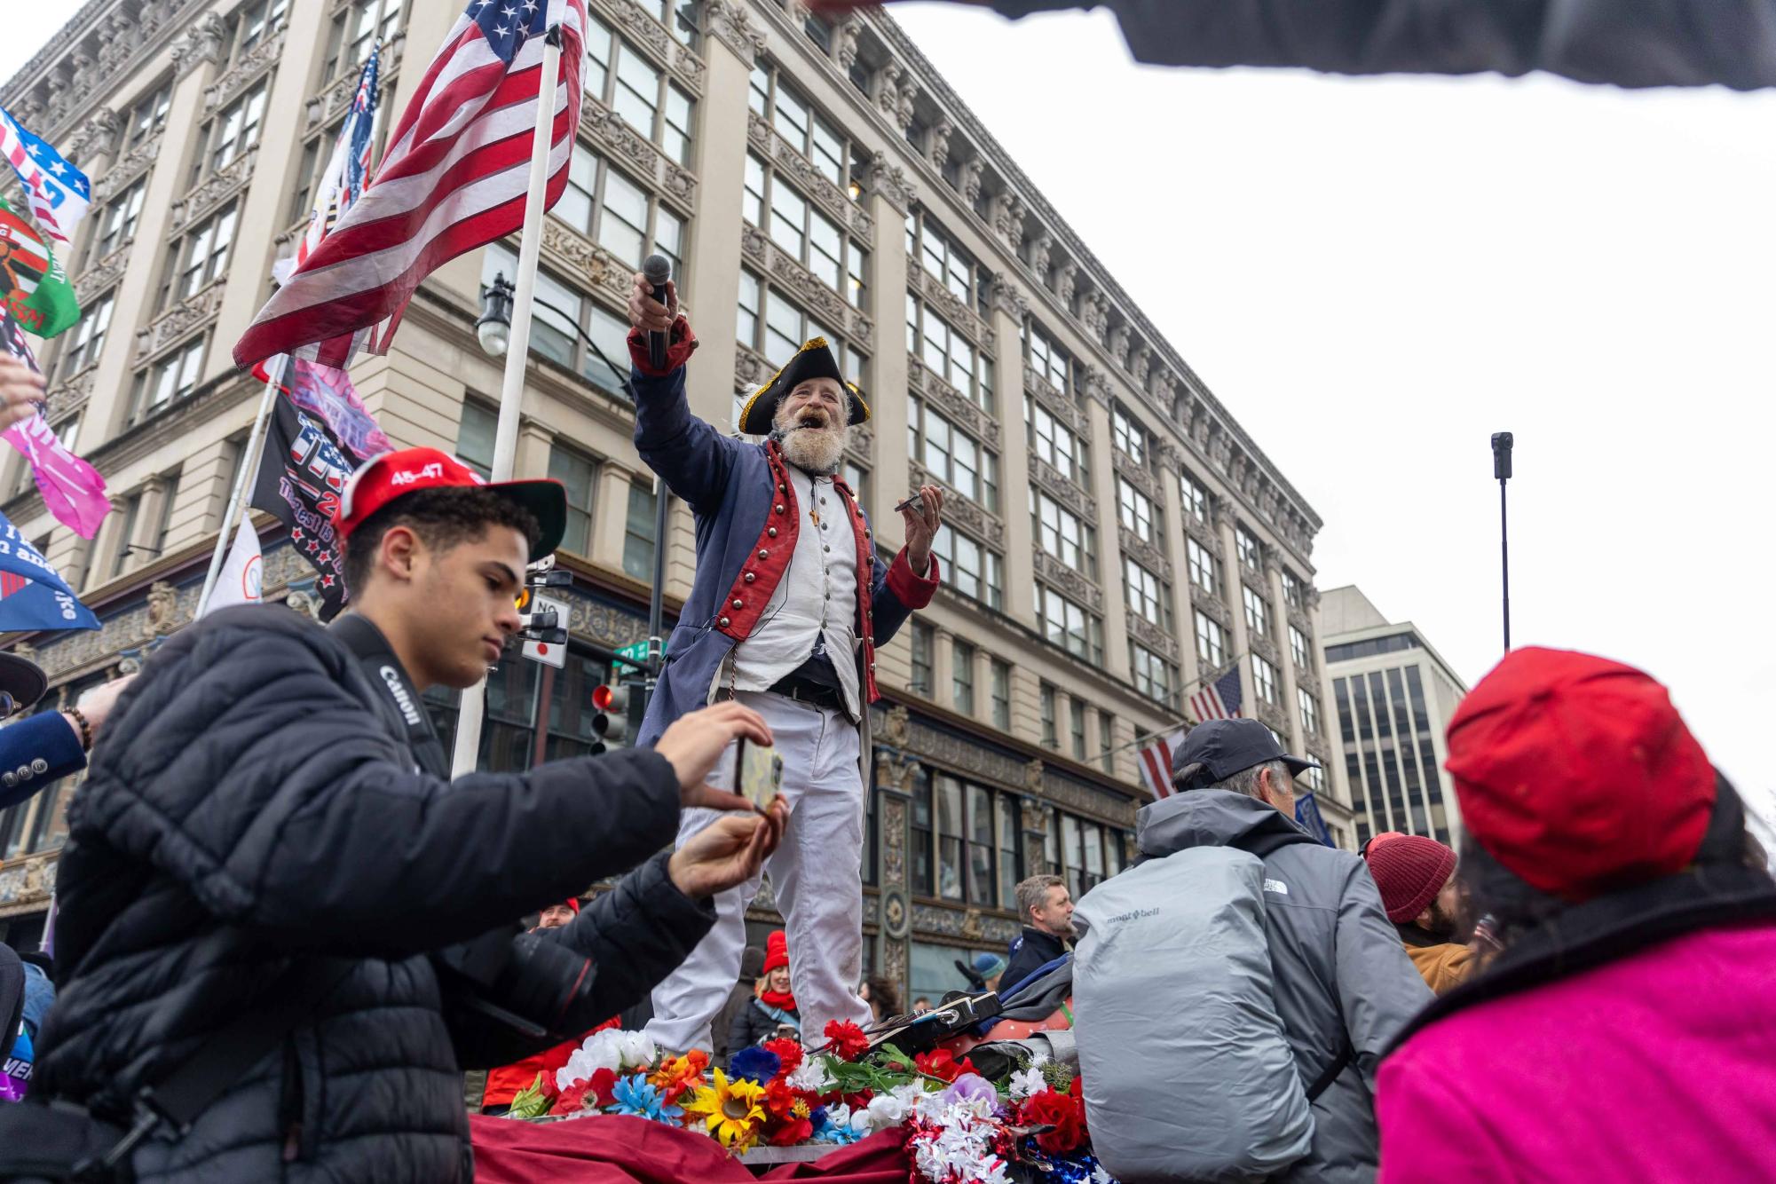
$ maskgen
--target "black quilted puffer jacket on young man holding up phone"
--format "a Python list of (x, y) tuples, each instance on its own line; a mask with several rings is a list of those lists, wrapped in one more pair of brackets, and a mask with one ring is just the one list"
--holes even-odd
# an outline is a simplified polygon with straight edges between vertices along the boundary
[[(412, 772), (377, 694), (327, 630), (242, 607), (172, 637), (115, 708), (69, 808), (66, 980), (43, 1090), (126, 1097), (252, 1008), (293, 959), (353, 960), (186, 1138), (139, 1148), (142, 1180), (467, 1180), (460, 1070), (563, 1035), (476, 1019), (428, 951), (671, 843), (678, 790), (662, 756), (448, 783)], [(584, 1031), (664, 978), (712, 921), (659, 856), (572, 925), (513, 937), (492, 1001)], [(538, 966), (549, 955), (570, 973)]]

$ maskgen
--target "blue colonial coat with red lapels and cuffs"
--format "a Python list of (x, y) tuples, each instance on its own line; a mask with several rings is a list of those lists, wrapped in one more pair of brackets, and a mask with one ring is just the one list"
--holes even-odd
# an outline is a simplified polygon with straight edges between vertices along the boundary
[[(641, 335), (632, 334), (629, 344), (636, 449), (696, 517), (691, 596), (666, 643), (666, 667), (636, 737), (636, 744), (654, 744), (675, 719), (710, 701), (723, 660), (751, 635), (789, 568), (803, 513), (789, 462), (776, 442), (748, 444), (721, 435), (691, 414), (680, 359), (668, 373), (650, 375)], [(854, 625), (863, 643), (858, 673), (863, 701), (874, 703), (879, 698), (876, 650), (888, 644), (915, 609), (931, 604), (938, 589), (938, 557), (931, 557), (925, 577), (913, 575), (906, 549), (893, 563), (883, 563), (856, 493), (842, 478), (835, 478), (833, 486), (858, 547)]]

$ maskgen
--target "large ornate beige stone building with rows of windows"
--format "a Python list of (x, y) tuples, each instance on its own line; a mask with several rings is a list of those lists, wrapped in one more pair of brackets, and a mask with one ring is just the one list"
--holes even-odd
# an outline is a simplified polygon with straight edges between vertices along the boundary
[[(1330, 756), (1311, 547), (1320, 518), (886, 16), (828, 25), (797, 0), (588, 0), (572, 183), (545, 224), (540, 296), (622, 362), (629, 275), (678, 261), (702, 339), (698, 414), (813, 334), (870, 392), (849, 474), (881, 525), (922, 481), (952, 490), (947, 586), (881, 655), (867, 916), (872, 967), (916, 992), (1016, 934), (1009, 886), (1119, 870), (1144, 799), (1137, 735), (1238, 662), (1250, 714)], [(139, 662), (190, 620), (259, 389), (229, 348), (293, 250), (316, 174), (384, 46), (380, 137), (453, 4), (89, 0), (0, 89), (94, 179), (64, 259), (87, 318), (46, 343), (52, 421), (117, 511), (87, 541), (21, 462), (0, 508), (105, 620), (18, 639), (52, 699)], [(380, 153), (380, 144), (378, 144)], [(353, 380), (403, 446), (492, 458), (501, 362), (474, 334), (513, 243), (442, 266), (387, 357)], [(586, 692), (645, 632), (652, 481), (611, 371), (540, 312), (517, 467), (568, 485), (577, 584), (565, 671), (490, 682), (483, 760), (584, 746)], [(693, 525), (673, 506), (668, 609)], [(313, 605), (270, 518), (266, 589)], [(451, 705), (435, 703), (448, 726)], [(1316, 783), (1352, 841), (1343, 769)], [(71, 786), (0, 818), (0, 923), (41, 918)], [(764, 916), (764, 914), (760, 914)], [(28, 934), (27, 934), (28, 935)]]

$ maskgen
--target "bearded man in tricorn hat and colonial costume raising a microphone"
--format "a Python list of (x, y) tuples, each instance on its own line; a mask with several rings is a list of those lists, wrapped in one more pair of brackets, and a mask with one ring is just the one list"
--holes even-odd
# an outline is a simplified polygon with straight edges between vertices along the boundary
[[(803, 1040), (828, 1021), (870, 1022), (856, 994), (863, 957), (863, 758), (876, 701), (876, 648), (938, 589), (943, 493), (924, 486), (902, 509), (906, 547), (883, 563), (856, 493), (838, 476), (851, 424), (870, 417), (826, 341), (815, 337), (748, 399), (725, 437), (691, 414), (686, 360), (696, 348), (678, 312), (636, 275), (629, 298), (636, 447), (696, 515), (696, 577), (666, 646), (659, 689), (641, 722), (650, 744), (678, 715), (735, 698), (765, 722), (783, 758), (789, 825), (765, 861), (789, 934)], [(668, 334), (666, 367), (648, 332)], [(735, 760), (710, 783), (733, 788)], [(716, 811), (686, 809), (678, 841)], [(709, 1049), (746, 948), (746, 905), (758, 879), (716, 896), (719, 920), (691, 959), (654, 989), (648, 1035), (673, 1051)]]

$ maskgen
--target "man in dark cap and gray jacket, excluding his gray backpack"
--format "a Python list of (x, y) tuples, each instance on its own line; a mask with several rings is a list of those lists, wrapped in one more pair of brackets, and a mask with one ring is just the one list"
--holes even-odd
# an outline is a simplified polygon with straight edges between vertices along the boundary
[(1280, 1179), (1373, 1180), (1382, 1051), (1433, 996), (1362, 859), (1296, 825), (1295, 776), (1312, 767), (1256, 719), (1199, 724), (1172, 756), (1177, 793), (1142, 808), (1137, 838), (1144, 859), (1236, 847), (1265, 861), (1277, 1015), (1302, 1085), (1330, 1077), (1312, 1101), (1312, 1148)]

